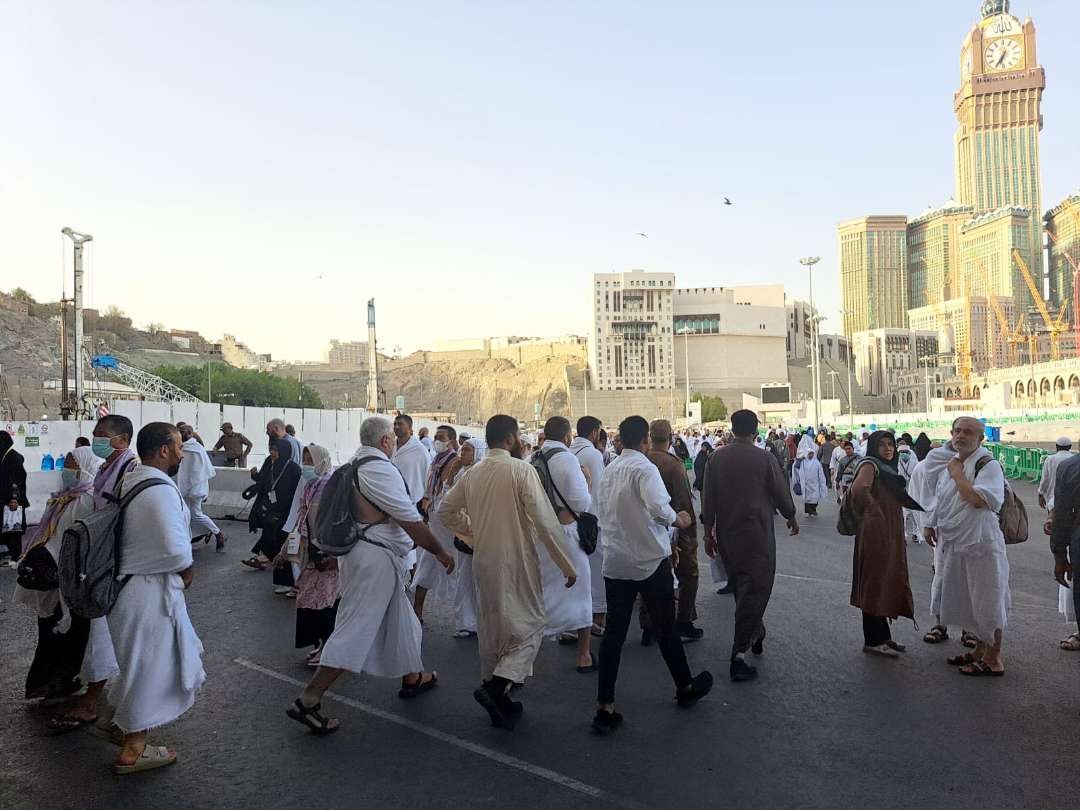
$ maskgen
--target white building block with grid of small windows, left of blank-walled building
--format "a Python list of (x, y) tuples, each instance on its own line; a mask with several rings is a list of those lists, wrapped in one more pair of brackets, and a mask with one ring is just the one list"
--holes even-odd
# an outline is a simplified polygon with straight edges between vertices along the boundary
[(674, 273), (593, 275), (592, 387), (598, 391), (674, 388)]

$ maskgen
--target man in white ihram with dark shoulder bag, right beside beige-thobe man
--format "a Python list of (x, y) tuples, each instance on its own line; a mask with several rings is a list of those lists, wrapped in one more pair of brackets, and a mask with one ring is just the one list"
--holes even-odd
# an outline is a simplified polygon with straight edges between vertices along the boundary
[(581, 464), (569, 451), (572, 436), (569, 420), (553, 416), (544, 423), (543, 432), (546, 440), (532, 465), (538, 471), (546, 470), (550, 476), (551, 491), (548, 496), (558, 522), (563, 524), (563, 551), (573, 563), (578, 580), (573, 588), (565, 588), (562, 570), (543, 548), (537, 550), (540, 554), (544, 611), (548, 615), (546, 633), (557, 635), (559, 644), (578, 645), (578, 672), (595, 672), (589, 646), (593, 627), (592, 570), (589, 555), (578, 540), (575, 518), (575, 515), (589, 512), (593, 499)]

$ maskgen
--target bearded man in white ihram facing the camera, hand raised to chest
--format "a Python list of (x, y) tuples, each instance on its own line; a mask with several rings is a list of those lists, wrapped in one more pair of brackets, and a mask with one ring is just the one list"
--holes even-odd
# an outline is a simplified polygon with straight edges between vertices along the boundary
[(924, 532), (942, 548), (941, 623), (960, 624), (978, 637), (970, 658), (950, 660), (961, 664), (962, 675), (1002, 675), (1001, 638), (1012, 600), (997, 515), (1005, 498), (1004, 471), (982, 446), (981, 421), (959, 417), (951, 435), (956, 456), (939, 476)]

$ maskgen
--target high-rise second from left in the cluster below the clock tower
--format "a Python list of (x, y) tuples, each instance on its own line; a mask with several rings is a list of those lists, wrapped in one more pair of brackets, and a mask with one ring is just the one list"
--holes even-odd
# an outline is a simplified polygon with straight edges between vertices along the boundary
[(960, 228), (974, 216), (970, 205), (949, 202), (907, 224), (907, 298), (917, 309), (954, 297), (960, 271)]

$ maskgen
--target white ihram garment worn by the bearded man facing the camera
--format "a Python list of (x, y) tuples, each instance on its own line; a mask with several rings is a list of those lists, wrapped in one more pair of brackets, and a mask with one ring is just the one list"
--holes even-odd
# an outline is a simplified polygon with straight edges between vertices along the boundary
[(988, 508), (976, 509), (960, 498), (946, 472), (937, 482), (935, 509), (927, 525), (937, 529), (942, 546), (942, 624), (966, 627), (993, 642), (995, 631), (1009, 623), (1012, 606), (1009, 557), (996, 514), (1004, 502), (1005, 480), (993, 458), (975, 478), (975, 464), (982, 458), (990, 454), (980, 447), (964, 462), (963, 472)]

